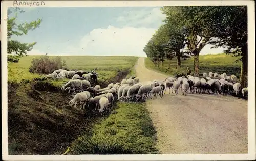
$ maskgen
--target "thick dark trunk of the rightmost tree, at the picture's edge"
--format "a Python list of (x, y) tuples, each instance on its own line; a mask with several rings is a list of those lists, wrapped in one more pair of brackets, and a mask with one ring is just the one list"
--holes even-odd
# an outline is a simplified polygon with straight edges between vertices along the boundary
[(242, 88), (247, 87), (247, 70), (248, 70), (248, 55), (247, 55), (247, 47), (242, 48), (243, 58), (241, 64), (241, 73), (240, 73), (240, 84)]

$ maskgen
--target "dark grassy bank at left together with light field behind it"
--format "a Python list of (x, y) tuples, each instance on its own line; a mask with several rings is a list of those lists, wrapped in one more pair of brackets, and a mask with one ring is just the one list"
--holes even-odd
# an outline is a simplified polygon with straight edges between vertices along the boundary
[[(42, 77), (28, 71), (33, 57), (37, 56), (28, 56), (19, 63), (8, 64), (9, 154), (61, 154), (81, 131), (91, 135), (93, 126), (102, 123), (105, 118), (90, 109), (84, 112), (70, 108), (68, 102), (72, 98), (58, 89), (67, 79), (33, 81), (33, 78)], [(64, 56), (63, 59), (69, 69), (94, 69), (104, 88), (109, 82), (120, 82), (129, 73), (134, 75), (132, 67), (138, 57), (96, 59), (90, 56)]]

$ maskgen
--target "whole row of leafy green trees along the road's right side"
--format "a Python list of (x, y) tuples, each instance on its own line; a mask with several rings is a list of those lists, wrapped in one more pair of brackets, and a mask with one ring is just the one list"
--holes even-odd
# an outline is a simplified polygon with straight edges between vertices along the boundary
[[(225, 53), (239, 56), (238, 61), (242, 61), (240, 83), (242, 87), (246, 86), (246, 6), (164, 6), (161, 11), (166, 15), (166, 19), (159, 30), (164, 29), (167, 36), (159, 36), (156, 33), (152, 39), (160, 42), (163, 51), (162, 54), (154, 53), (154, 45), (147, 47), (150, 44), (148, 42), (145, 46), (147, 49), (144, 48), (146, 53), (150, 53), (148, 57), (154, 56), (153, 61), (163, 54), (167, 59), (178, 58), (179, 55), (186, 58), (189, 53), (194, 56), (194, 72), (198, 76), (199, 53), (203, 47), (207, 44), (215, 45), (216, 48), (226, 47)], [(185, 55), (181, 49), (186, 50)]]

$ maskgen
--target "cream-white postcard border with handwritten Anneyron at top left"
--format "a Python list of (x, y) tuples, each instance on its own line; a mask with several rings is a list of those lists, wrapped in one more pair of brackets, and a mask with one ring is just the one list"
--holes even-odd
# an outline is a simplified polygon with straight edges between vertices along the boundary
[[(31, 2), (31, 1), (28, 1)], [(41, 1), (39, 1), (41, 2)], [(135, 7), (135, 6), (224, 6), (248, 7), (248, 154), (143, 154), (143, 155), (8, 155), (7, 127), (7, 8), (2, 1), (2, 158), (3, 160), (254, 160), (255, 159), (255, 17), (254, 1), (44, 1), (31, 7)], [(29, 7), (19, 6), (19, 7)], [(5, 40), (5, 41), (3, 41)]]

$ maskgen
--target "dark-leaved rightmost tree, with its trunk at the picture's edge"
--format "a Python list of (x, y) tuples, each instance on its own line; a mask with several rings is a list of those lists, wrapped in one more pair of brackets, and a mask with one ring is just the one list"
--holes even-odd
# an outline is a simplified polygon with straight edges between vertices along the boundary
[[(248, 73), (248, 29), (247, 6), (220, 6), (209, 8), (211, 34), (216, 37), (210, 41), (215, 47), (225, 47), (226, 54), (239, 57), (241, 61), (240, 83), (246, 87)], [(221, 18), (220, 18), (221, 17)]]

